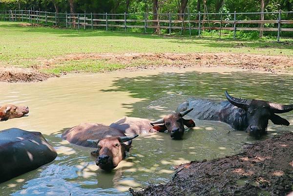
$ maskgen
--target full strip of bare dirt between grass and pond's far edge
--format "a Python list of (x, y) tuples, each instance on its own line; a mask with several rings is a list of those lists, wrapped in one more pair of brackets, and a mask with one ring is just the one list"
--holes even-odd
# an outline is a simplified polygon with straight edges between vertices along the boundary
[(226, 66), (247, 70), (258, 70), (272, 73), (292, 73), (293, 58), (278, 55), (263, 54), (235, 54), (235, 53), (125, 53), (125, 54), (97, 54), (82, 53), (69, 54), (52, 59), (37, 59), (31, 68), (0, 67), (0, 81), (2, 82), (38, 82), (54, 74), (44, 73), (42, 70), (52, 68), (62, 62), (72, 60), (106, 60), (109, 63), (132, 65), (126, 69), (155, 69), (156, 67), (180, 67), (191, 66), (216, 67)]

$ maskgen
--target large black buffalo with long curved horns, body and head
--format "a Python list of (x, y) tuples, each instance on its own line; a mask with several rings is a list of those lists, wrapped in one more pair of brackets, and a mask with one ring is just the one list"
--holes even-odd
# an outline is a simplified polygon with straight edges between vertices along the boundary
[(275, 125), (290, 123), (276, 115), (293, 110), (293, 105), (282, 105), (268, 101), (235, 98), (225, 92), (228, 101), (212, 101), (189, 98), (179, 105), (176, 111), (193, 108), (190, 116), (199, 120), (221, 121), (229, 124), (232, 129), (246, 131), (252, 136), (259, 137), (266, 133), (269, 120)]

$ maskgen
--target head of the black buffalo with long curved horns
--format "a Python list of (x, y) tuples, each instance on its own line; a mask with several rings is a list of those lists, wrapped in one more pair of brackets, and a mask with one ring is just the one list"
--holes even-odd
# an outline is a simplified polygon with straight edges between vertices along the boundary
[(256, 99), (235, 98), (230, 96), (227, 91), (225, 94), (232, 105), (246, 111), (247, 127), (245, 127), (244, 130), (252, 136), (259, 137), (266, 133), (269, 120), (275, 125), (290, 125), (286, 119), (276, 115), (276, 113), (289, 112), (293, 110), (293, 105), (275, 104)]

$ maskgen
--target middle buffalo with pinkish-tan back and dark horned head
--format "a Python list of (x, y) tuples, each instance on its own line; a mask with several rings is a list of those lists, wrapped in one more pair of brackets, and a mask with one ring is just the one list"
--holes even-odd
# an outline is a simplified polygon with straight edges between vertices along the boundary
[[(120, 130), (126, 134), (146, 134), (150, 132), (168, 131), (174, 139), (181, 139), (184, 134), (184, 125), (188, 128), (194, 127), (193, 120), (185, 120), (183, 116), (188, 114), (192, 109), (169, 114), (166, 117), (151, 122), (143, 118), (124, 117), (110, 125), (111, 128)], [(164, 124), (153, 126), (155, 124)]]

